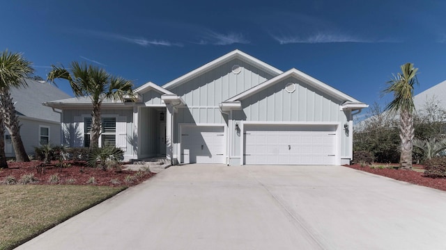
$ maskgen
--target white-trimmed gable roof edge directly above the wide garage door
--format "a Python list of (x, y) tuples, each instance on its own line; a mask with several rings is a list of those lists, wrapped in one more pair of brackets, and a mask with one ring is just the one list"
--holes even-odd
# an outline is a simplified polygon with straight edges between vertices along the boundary
[(312, 87), (321, 90), (322, 92), (325, 92), (332, 97), (335, 97), (341, 101), (344, 101), (345, 103), (348, 103), (350, 108), (353, 108), (355, 104), (358, 106), (361, 106), (362, 108), (367, 108), (367, 104), (362, 103), (360, 101), (357, 101), (353, 97), (344, 94), (343, 92), (336, 90), (335, 88), (332, 88), (331, 86), (317, 80), (316, 78), (313, 78), (312, 76), (309, 76), (303, 72), (300, 72), (298, 69), (290, 69), (287, 72), (284, 72), (283, 74), (280, 74), (279, 76), (276, 76), (275, 78), (271, 78), (270, 80), (261, 83), (259, 85), (254, 86), (253, 88), (250, 88), (249, 90), (246, 90), (245, 92), (242, 92), (240, 94), (237, 94), (235, 97), (232, 97), (225, 102), (233, 102), (233, 101), (241, 101), (252, 94), (255, 94), (256, 92), (259, 92), (261, 90), (264, 90), (265, 88), (268, 88), (270, 85), (274, 85), (275, 83), (278, 83), (281, 80), (284, 80), (288, 77), (295, 77), (300, 79), (301, 81), (312, 85)]

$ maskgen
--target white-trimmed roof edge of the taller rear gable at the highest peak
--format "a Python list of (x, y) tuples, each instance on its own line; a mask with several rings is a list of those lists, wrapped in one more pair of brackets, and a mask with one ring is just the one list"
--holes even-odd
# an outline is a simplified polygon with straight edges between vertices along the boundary
[(205, 72), (208, 72), (209, 70), (214, 69), (215, 67), (218, 67), (224, 63), (227, 63), (230, 60), (233, 60), (235, 58), (243, 60), (246, 63), (252, 64), (256, 67), (259, 67), (263, 71), (268, 72), (268, 74), (272, 74), (272, 76), (277, 76), (277, 75), (283, 73), (282, 70), (276, 69), (275, 67), (272, 67), (271, 65), (268, 65), (267, 63), (263, 63), (261, 60), (254, 58), (252, 56), (249, 56), (247, 53), (244, 53), (244, 52), (236, 49), (234, 51), (227, 53), (224, 56), (221, 56), (220, 58), (213, 60), (210, 63), (207, 63), (206, 65), (199, 67), (198, 69), (192, 70), (192, 72), (189, 72), (183, 76), (176, 78), (174, 81), (170, 81), (169, 83), (162, 85), (162, 88), (165, 88), (165, 89), (174, 88), (178, 85), (185, 83), (186, 81), (190, 80), (191, 78), (194, 78), (194, 77), (199, 76)]

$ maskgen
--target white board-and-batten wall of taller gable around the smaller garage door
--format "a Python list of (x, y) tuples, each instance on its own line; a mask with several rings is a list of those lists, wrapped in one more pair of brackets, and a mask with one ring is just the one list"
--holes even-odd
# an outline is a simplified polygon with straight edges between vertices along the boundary
[[(233, 65), (240, 66), (240, 73), (232, 72)], [(187, 105), (186, 108), (178, 108), (175, 113), (173, 155), (180, 155), (178, 124), (225, 124), (227, 128), (229, 117), (221, 113), (220, 103), (272, 77), (243, 60), (234, 59), (175, 88), (169, 88), (169, 91), (181, 97)], [(228, 144), (227, 135), (226, 140)]]

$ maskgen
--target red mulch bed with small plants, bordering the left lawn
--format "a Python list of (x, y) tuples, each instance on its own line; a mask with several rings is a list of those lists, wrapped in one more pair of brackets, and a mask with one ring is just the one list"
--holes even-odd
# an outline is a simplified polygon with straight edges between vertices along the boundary
[[(137, 174), (135, 171), (122, 170), (121, 172), (115, 172), (114, 170), (104, 171), (100, 168), (87, 167), (85, 163), (82, 162), (72, 162), (66, 161), (64, 163), (70, 164), (70, 167), (59, 168), (56, 167), (57, 161), (45, 167), (45, 173), (38, 174), (37, 166), (42, 163), (38, 160), (32, 160), (27, 163), (8, 163), (7, 169), (0, 169), (0, 184), (3, 184), (3, 180), (6, 176), (14, 176), (17, 183), (20, 178), (25, 174), (34, 174), (34, 177), (38, 179), (35, 184), (40, 185), (107, 185), (107, 186), (132, 186), (137, 185), (143, 181), (146, 181), (154, 173), (151, 172), (141, 172)], [(125, 167), (125, 165), (123, 166)], [(49, 178), (53, 174), (58, 174), (60, 181), (57, 183), (49, 183)], [(128, 176), (133, 176), (132, 181), (125, 181), (125, 178), (129, 179)], [(95, 183), (88, 183), (91, 177), (95, 178)], [(112, 182), (113, 180), (113, 182)]]

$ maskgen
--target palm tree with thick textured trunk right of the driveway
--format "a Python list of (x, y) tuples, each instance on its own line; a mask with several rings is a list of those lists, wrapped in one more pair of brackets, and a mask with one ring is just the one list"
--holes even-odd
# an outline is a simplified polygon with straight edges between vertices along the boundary
[(401, 138), (401, 156), (399, 167), (401, 169), (412, 169), (412, 140), (415, 128), (413, 126), (413, 113), (415, 105), (413, 103), (413, 88), (418, 84), (417, 68), (413, 67), (413, 63), (401, 65), (401, 73), (393, 75), (392, 79), (387, 82), (388, 87), (383, 90), (384, 94), (393, 93), (394, 99), (386, 107), (385, 110), (390, 113), (399, 113), (399, 138)]

